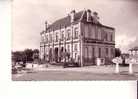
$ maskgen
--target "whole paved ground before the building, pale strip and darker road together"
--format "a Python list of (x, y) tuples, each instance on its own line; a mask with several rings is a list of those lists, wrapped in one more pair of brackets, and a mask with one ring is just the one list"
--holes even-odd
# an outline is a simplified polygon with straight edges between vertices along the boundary
[(65, 81), (65, 80), (137, 80), (138, 65), (133, 66), (133, 74), (128, 73), (128, 67), (120, 67), (120, 73), (115, 73), (115, 66), (87, 66), (79, 68), (34, 68), (29, 72), (13, 74), (13, 81)]

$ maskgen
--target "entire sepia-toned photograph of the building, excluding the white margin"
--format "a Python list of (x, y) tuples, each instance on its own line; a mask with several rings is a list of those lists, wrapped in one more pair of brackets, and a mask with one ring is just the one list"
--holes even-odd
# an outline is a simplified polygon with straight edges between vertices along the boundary
[(138, 79), (137, 0), (13, 0), (12, 81)]

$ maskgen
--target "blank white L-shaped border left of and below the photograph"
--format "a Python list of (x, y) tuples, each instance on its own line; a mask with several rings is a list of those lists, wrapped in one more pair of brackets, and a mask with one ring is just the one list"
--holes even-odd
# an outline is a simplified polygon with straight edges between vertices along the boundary
[(11, 4), (8, 1), (0, 1), (0, 46), (0, 99), (137, 98), (136, 81), (11, 81)]

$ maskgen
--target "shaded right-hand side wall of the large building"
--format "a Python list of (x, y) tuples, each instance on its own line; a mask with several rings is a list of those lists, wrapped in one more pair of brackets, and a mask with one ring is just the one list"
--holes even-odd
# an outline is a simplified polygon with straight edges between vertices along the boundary
[[(100, 58), (111, 60), (114, 57), (115, 30), (90, 23), (87, 24), (82, 23), (81, 31), (84, 38), (83, 55), (82, 55), (84, 59), (84, 64), (87, 65), (95, 63), (95, 58), (99, 58), (99, 48), (101, 49)], [(107, 34), (107, 39), (105, 38), (105, 34)], [(87, 42), (87, 40), (91, 41)], [(93, 55), (92, 48), (95, 49), (94, 56), (92, 56)], [(108, 49), (108, 55), (106, 54), (106, 48)], [(111, 49), (113, 52), (111, 51)]]

